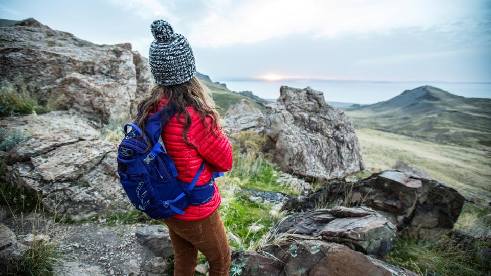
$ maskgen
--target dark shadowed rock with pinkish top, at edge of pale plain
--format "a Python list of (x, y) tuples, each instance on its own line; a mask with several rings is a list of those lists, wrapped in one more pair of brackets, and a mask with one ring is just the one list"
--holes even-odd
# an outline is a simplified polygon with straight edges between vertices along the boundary
[(453, 228), (465, 198), (435, 180), (408, 172), (383, 171), (353, 183), (333, 181), (313, 194), (287, 201), (283, 210), (305, 211), (345, 201), (376, 210), (398, 231), (428, 239)]

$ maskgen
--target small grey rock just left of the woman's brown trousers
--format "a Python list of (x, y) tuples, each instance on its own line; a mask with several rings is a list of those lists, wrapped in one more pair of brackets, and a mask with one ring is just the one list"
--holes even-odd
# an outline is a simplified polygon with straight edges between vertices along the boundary
[(174, 255), (169, 231), (163, 225), (150, 225), (135, 230), (138, 242), (146, 246), (155, 255), (169, 258)]

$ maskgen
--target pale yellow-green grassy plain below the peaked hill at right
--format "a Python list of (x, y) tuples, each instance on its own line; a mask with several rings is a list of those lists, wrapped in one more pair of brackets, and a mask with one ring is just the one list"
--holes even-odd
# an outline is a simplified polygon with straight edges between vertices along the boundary
[(491, 201), (491, 158), (488, 151), (441, 145), (405, 135), (358, 128), (367, 168), (375, 172), (391, 168), (397, 160), (414, 164), (441, 182), (456, 188), (467, 199), (483, 205)]

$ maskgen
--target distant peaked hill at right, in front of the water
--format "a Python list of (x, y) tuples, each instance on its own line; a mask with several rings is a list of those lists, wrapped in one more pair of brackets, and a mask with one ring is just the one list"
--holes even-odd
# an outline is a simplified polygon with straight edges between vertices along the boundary
[(367, 127), (441, 143), (491, 147), (491, 99), (466, 98), (432, 86), (345, 113)]

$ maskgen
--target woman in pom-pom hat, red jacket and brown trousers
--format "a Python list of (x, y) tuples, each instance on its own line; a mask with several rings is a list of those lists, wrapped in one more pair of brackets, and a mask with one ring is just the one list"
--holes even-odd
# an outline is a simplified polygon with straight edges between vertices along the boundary
[[(155, 41), (150, 46), (149, 63), (157, 86), (138, 105), (142, 110), (139, 127), (143, 129), (149, 116), (171, 102), (177, 113), (164, 125), (161, 136), (175, 163), (177, 178), (191, 182), (205, 162), (196, 187), (209, 185), (212, 172), (232, 168), (232, 147), (220, 127), (213, 99), (194, 76), (196, 66), (189, 42), (164, 20), (154, 21), (151, 30)], [(188, 206), (184, 215), (162, 219), (174, 248), (174, 275), (194, 275), (198, 250), (210, 265), (210, 275), (229, 274), (230, 249), (217, 210), (221, 196), (216, 183), (212, 185), (210, 201)]]

